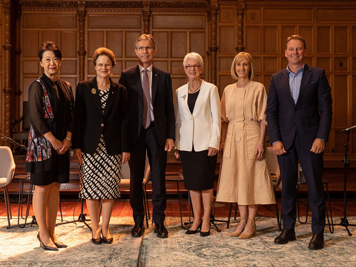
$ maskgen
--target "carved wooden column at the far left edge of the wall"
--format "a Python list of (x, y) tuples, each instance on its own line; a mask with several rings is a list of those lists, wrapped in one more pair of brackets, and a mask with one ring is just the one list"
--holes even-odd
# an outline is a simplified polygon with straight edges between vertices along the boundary
[[(12, 93), (12, 84), (10, 77), (11, 70), (11, 2), (6, 1), (3, 2), (2, 7), (4, 9), (4, 61), (5, 61), (5, 69), (4, 69), (4, 107), (5, 107), (5, 120), (4, 120), (4, 135), (10, 136), (10, 115), (11, 115), (11, 93)], [(4, 142), (8, 145), (8, 142)]]

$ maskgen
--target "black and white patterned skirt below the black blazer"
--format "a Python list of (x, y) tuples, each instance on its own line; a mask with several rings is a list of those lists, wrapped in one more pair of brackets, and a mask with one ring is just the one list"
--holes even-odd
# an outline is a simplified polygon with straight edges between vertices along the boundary
[(79, 197), (84, 199), (120, 198), (122, 156), (109, 156), (103, 135), (93, 155), (82, 152), (79, 165)]

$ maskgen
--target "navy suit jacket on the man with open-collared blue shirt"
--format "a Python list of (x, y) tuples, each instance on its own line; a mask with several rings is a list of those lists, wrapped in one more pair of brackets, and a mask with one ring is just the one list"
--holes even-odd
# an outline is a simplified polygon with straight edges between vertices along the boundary
[(274, 73), (267, 98), (268, 134), (271, 144), (282, 141), (287, 150), (297, 134), (305, 150), (315, 138), (328, 141), (332, 117), (331, 88), (324, 69), (304, 65), (297, 103), (289, 89), (287, 69)]

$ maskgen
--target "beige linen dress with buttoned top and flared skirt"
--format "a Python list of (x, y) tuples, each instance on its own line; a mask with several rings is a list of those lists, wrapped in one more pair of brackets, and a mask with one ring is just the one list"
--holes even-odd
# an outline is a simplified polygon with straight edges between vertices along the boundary
[(274, 204), (273, 187), (264, 157), (256, 161), (260, 121), (266, 120), (267, 93), (263, 84), (251, 81), (245, 88), (227, 85), (221, 98), (221, 121), (227, 127), (216, 201), (239, 205)]

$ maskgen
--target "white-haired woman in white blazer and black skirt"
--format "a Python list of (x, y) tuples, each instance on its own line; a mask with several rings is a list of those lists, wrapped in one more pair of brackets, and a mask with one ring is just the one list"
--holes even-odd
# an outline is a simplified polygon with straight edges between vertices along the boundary
[(198, 53), (188, 53), (184, 57), (183, 66), (189, 82), (176, 90), (174, 155), (182, 162), (184, 187), (190, 191), (195, 215), (185, 234), (195, 234), (200, 229), (200, 236), (208, 236), (221, 118), (218, 88), (200, 79), (203, 64)]

